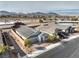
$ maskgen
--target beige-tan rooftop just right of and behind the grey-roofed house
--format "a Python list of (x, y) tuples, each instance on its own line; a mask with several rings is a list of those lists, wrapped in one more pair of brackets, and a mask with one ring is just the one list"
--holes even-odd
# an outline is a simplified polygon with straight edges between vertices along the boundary
[(52, 34), (54, 33), (57, 25), (54, 22), (43, 23), (41, 26), (36, 27), (36, 30), (39, 30), (44, 33)]

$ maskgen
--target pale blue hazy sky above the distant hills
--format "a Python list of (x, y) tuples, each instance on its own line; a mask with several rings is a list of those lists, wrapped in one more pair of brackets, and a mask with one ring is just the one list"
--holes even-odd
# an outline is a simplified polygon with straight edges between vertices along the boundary
[(79, 1), (0, 1), (0, 11), (69, 12), (79, 10)]

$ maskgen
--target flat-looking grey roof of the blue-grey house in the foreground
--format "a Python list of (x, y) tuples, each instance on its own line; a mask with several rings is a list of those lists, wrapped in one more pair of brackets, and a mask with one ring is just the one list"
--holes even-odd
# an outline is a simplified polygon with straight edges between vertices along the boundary
[(36, 31), (36, 30), (29, 28), (27, 26), (22, 26), (22, 27), (16, 29), (16, 31), (19, 32), (22, 36), (24, 36), (26, 38), (39, 34), (39, 31)]

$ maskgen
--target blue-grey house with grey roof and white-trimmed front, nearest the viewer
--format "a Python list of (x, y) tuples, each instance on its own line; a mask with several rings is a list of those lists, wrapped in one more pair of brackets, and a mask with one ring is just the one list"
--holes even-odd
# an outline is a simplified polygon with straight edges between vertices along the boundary
[(42, 42), (47, 40), (47, 34), (37, 31), (35, 29), (29, 28), (27, 26), (21, 26), (17, 28), (16, 33), (23, 39), (29, 39), (32, 43)]

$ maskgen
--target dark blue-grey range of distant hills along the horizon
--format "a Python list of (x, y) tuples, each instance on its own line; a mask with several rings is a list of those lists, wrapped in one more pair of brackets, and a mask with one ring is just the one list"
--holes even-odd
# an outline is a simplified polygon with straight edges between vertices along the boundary
[(0, 16), (57, 16), (57, 13), (42, 13), (42, 12), (35, 12), (35, 13), (16, 13), (16, 12), (8, 12), (8, 11), (0, 11)]

